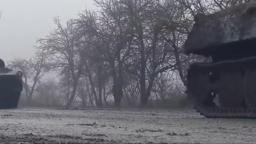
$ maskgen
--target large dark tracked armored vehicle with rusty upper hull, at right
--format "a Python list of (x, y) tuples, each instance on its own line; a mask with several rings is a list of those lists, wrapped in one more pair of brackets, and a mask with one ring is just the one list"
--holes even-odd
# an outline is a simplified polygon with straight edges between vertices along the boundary
[(184, 50), (211, 58), (187, 70), (187, 94), (198, 113), (256, 118), (256, 2), (197, 14)]

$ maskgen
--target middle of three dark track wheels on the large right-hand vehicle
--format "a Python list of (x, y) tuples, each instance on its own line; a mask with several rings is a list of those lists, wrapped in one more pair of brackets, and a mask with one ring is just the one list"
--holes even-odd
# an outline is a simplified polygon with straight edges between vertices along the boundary
[(243, 77), (241, 73), (221, 73), (218, 94), (222, 108), (240, 107), (243, 102)]

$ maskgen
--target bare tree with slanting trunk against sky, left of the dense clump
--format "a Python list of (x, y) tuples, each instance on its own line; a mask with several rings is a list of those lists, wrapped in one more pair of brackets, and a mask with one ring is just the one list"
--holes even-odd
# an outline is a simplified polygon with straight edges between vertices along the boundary
[(67, 26), (61, 25), (60, 19), (54, 18), (56, 29), (50, 35), (38, 39), (38, 49), (47, 53), (51, 61), (51, 69), (60, 70), (63, 76), (70, 73), (72, 91), (66, 107), (70, 107), (76, 96), (78, 79), (83, 70), (83, 56), (81, 55), (81, 37), (77, 35), (77, 28), (73, 21), (69, 20)]

